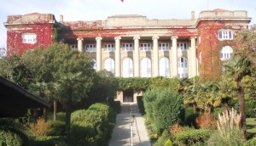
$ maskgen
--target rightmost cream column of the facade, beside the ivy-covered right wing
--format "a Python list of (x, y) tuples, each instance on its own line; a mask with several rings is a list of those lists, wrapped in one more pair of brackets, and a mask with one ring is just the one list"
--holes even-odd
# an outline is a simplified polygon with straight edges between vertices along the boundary
[(196, 48), (195, 48), (195, 37), (190, 38), (191, 41), (191, 67), (192, 67), (192, 77), (196, 76)]

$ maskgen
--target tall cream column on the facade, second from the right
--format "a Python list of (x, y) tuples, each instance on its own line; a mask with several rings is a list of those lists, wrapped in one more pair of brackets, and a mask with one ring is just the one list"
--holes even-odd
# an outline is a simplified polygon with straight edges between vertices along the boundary
[(177, 36), (172, 36), (172, 70), (171, 77), (177, 77)]

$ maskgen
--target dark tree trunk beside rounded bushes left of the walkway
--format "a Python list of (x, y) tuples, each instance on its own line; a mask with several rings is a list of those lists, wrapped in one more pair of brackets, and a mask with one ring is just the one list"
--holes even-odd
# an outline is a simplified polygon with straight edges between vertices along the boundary
[(66, 137), (67, 137), (67, 143), (70, 142), (70, 120), (71, 120), (71, 100), (68, 100), (66, 103)]

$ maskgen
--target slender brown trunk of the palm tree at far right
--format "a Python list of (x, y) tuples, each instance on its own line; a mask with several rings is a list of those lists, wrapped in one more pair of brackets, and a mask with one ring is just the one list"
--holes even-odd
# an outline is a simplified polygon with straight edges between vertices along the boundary
[(246, 111), (245, 111), (245, 97), (244, 97), (244, 88), (242, 82), (238, 82), (238, 98), (239, 98), (239, 109), (241, 114), (240, 126), (243, 134), (243, 138), (246, 138)]

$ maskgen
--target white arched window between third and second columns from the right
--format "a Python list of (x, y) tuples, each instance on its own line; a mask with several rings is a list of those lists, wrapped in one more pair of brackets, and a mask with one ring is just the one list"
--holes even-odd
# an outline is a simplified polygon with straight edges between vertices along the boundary
[(170, 77), (169, 59), (167, 59), (166, 57), (160, 59), (159, 70), (160, 76)]

